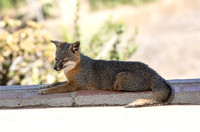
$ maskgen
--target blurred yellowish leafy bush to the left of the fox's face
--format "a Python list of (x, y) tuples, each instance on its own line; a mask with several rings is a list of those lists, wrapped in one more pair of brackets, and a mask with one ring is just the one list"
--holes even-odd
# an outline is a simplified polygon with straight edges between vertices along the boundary
[(52, 68), (54, 52), (42, 25), (4, 18), (0, 21), (0, 85), (58, 80)]

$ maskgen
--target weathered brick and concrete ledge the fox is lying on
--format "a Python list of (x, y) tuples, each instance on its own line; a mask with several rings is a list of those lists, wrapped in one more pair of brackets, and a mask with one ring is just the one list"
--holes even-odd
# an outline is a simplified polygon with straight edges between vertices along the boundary
[[(174, 87), (172, 104), (200, 104), (200, 79), (169, 80)], [(39, 95), (39, 85), (0, 86), (0, 108), (126, 105), (151, 92), (82, 90)]]

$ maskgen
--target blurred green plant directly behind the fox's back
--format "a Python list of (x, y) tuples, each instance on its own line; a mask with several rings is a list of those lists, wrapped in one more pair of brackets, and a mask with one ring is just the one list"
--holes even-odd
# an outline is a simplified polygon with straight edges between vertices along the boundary
[(110, 18), (91, 35), (82, 51), (96, 59), (127, 60), (137, 50), (136, 35), (136, 30), (134, 34), (127, 34), (123, 22), (113, 22)]

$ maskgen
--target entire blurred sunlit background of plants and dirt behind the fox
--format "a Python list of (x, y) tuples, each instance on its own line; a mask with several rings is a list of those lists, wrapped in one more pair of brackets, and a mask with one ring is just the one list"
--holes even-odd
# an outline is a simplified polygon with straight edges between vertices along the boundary
[(199, 0), (0, 0), (0, 85), (65, 80), (50, 40), (94, 59), (141, 61), (166, 79), (200, 77)]

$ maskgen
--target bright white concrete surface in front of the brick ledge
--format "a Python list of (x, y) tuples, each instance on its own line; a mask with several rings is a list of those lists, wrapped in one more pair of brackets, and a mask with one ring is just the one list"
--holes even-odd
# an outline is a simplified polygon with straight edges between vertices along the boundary
[(0, 110), (1, 132), (199, 132), (200, 106)]

